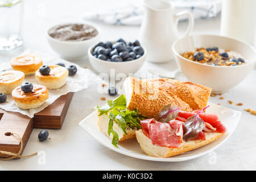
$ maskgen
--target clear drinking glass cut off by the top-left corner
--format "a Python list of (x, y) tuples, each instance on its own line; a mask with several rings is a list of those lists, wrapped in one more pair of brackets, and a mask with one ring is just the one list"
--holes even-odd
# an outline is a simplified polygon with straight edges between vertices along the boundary
[(22, 45), (22, 16), (21, 0), (0, 0), (0, 51)]

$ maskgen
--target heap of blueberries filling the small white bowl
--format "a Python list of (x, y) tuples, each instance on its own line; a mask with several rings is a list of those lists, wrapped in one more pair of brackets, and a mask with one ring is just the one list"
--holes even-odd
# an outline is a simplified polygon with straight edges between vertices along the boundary
[(144, 54), (144, 49), (138, 40), (126, 42), (122, 38), (114, 43), (99, 42), (94, 46), (92, 55), (104, 61), (122, 62), (138, 59)]

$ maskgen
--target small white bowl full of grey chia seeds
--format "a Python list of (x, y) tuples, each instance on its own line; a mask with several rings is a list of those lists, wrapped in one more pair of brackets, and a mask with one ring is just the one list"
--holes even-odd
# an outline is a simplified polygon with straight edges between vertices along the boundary
[(100, 39), (100, 30), (88, 23), (61, 23), (49, 28), (49, 46), (61, 57), (76, 60), (87, 55), (88, 48)]

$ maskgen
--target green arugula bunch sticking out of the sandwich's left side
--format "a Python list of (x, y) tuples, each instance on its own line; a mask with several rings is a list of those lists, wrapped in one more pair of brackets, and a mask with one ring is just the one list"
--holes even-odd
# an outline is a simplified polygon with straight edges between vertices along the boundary
[(113, 129), (114, 122), (117, 122), (118, 125), (122, 128), (123, 133), (127, 135), (127, 127), (137, 127), (138, 129), (141, 129), (141, 121), (146, 119), (142, 115), (138, 114), (137, 109), (133, 111), (126, 109), (126, 98), (123, 94), (118, 98), (115, 98), (113, 101), (108, 100), (107, 104), (104, 106), (96, 106), (95, 108), (99, 111), (99, 116), (102, 114), (108, 114), (108, 134), (113, 134), (112, 144), (116, 147), (119, 138), (118, 134)]

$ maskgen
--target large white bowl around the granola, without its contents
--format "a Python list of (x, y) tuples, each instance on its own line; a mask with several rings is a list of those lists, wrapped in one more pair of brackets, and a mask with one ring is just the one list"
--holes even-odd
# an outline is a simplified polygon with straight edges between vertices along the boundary
[[(229, 50), (228, 54), (241, 57), (245, 64), (221, 66), (198, 63), (181, 55), (183, 52), (195, 51), (196, 48), (218, 47)], [(246, 42), (218, 35), (191, 35), (177, 40), (172, 50), (175, 60), (183, 74), (193, 82), (209, 86), (213, 93), (228, 92), (246, 78), (254, 69), (256, 50)]]

